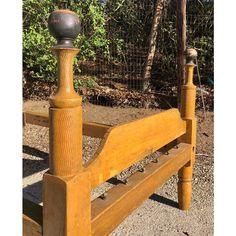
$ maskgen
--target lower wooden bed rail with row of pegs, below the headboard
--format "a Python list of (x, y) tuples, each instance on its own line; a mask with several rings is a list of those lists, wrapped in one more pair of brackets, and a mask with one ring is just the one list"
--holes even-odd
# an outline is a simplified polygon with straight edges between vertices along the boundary
[[(190, 160), (191, 145), (180, 144), (169, 155), (159, 157), (158, 163), (136, 172), (128, 184), (118, 184), (107, 192), (105, 199), (92, 202), (92, 235), (108, 235), (134, 209)], [(131, 200), (132, 199), (132, 200)]]

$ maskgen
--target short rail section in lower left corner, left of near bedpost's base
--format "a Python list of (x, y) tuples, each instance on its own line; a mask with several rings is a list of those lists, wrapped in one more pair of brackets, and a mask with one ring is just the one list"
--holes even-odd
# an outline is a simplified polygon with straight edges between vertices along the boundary
[(42, 206), (23, 199), (23, 236), (42, 235), (42, 213)]

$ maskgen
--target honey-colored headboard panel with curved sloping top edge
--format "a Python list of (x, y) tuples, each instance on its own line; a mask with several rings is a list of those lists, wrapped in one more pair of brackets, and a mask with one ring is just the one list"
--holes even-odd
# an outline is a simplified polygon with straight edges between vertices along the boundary
[(178, 109), (118, 125), (108, 130), (87, 169), (91, 186), (105, 182), (186, 132)]

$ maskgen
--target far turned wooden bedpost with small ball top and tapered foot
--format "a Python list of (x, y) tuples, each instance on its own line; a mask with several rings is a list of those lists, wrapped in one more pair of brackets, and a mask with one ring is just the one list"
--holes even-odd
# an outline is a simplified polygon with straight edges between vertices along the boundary
[(192, 172), (195, 162), (196, 150), (196, 118), (195, 118), (195, 100), (196, 86), (193, 84), (194, 60), (197, 52), (194, 49), (186, 51), (186, 79), (181, 87), (181, 116), (187, 122), (187, 132), (179, 141), (192, 145), (191, 161), (187, 163), (178, 173), (178, 201), (182, 210), (188, 210), (192, 195)]

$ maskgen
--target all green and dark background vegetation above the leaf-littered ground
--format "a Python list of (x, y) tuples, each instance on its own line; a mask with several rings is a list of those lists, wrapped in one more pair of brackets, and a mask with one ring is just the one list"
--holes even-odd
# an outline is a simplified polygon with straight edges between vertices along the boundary
[[(104, 74), (108, 74), (105, 76), (109, 77), (115, 74), (113, 70), (118, 64), (125, 65), (117, 67), (117, 74), (125, 77), (126, 74), (136, 70), (141, 76), (154, 0), (64, 2), (67, 8), (77, 12), (83, 25), (83, 32), (75, 42), (75, 46), (81, 49), (80, 55), (76, 58), (79, 63), (76, 63), (75, 73), (91, 80), (84, 83), (83, 80), (77, 79), (76, 86), (93, 86), (97, 77), (102, 77)], [(174, 0), (166, 1), (158, 30), (156, 59), (152, 69), (154, 79), (171, 78), (173, 83), (177, 49), (175, 4)], [(188, 46), (198, 49), (200, 71), (203, 82), (207, 82), (209, 78), (213, 80), (213, 1), (190, 0), (187, 4)], [(47, 19), (49, 14), (61, 5), (62, 1), (23, 0), (25, 80), (55, 81), (56, 61), (50, 53), (50, 47), (55, 41), (48, 33)], [(86, 61), (97, 63), (97, 67), (101, 67), (98, 62), (103, 63), (102, 66), (107, 68), (101, 75), (98, 70), (96, 73), (90, 69), (86, 71), (86, 67), (81, 67), (81, 62)], [(136, 64), (136, 67), (132, 63)], [(87, 67), (91, 67), (90, 64)], [(122, 71), (124, 68), (125, 72)]]

